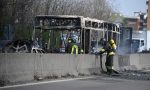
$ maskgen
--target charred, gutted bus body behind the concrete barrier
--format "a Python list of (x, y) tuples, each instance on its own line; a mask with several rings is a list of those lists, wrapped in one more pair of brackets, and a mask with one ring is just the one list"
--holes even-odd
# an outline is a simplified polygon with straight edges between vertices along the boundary
[(103, 20), (70, 15), (38, 15), (34, 20), (32, 40), (38, 39), (45, 50), (65, 52), (67, 39), (72, 37), (84, 53), (98, 50), (101, 38), (113, 38), (119, 43), (120, 29), (116, 24)]

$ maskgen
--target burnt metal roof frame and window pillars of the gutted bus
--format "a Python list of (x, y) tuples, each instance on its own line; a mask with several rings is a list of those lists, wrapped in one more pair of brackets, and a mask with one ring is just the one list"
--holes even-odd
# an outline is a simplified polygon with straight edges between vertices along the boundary
[[(83, 16), (71, 16), (71, 15), (38, 15), (34, 19), (34, 31), (32, 40), (35, 39), (36, 29), (41, 29), (41, 33), (43, 30), (76, 30), (80, 29), (80, 44), (85, 51), (85, 31), (90, 30), (89, 38), (89, 50), (91, 46), (91, 31), (97, 30), (98, 32), (102, 32), (102, 37), (104, 37), (105, 33), (107, 33), (107, 40), (109, 37), (113, 38), (114, 33), (116, 33), (116, 37), (119, 37), (120, 29), (116, 24), (109, 23), (103, 20), (93, 19), (89, 17)], [(111, 36), (108, 33), (111, 33)], [(49, 32), (50, 33), (50, 32)], [(84, 34), (83, 34), (84, 33)], [(84, 36), (82, 36), (84, 35)], [(83, 39), (84, 37), (84, 39)], [(97, 37), (98, 38), (98, 37)], [(118, 43), (119, 40), (115, 38), (115, 41)], [(90, 52), (90, 51), (89, 51)]]

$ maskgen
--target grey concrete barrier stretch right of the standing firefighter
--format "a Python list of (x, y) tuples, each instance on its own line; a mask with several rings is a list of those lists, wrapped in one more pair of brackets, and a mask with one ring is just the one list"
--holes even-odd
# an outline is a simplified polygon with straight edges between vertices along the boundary
[(118, 56), (120, 70), (150, 69), (150, 54), (130, 54)]

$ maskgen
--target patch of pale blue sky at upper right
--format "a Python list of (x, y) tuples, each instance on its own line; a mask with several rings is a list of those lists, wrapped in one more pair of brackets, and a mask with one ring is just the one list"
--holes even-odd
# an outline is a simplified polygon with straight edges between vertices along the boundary
[(124, 16), (132, 17), (134, 12), (147, 12), (146, 0), (114, 0), (116, 9)]

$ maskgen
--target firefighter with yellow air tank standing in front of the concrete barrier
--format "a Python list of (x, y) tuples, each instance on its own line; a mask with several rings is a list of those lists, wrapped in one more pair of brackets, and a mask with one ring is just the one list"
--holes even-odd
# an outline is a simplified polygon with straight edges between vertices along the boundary
[(113, 39), (106, 41), (105, 38), (102, 38), (100, 41), (102, 48), (100, 49), (100, 54), (106, 53), (106, 62), (105, 66), (107, 73), (111, 75), (113, 73), (113, 56), (115, 55), (116, 44)]

